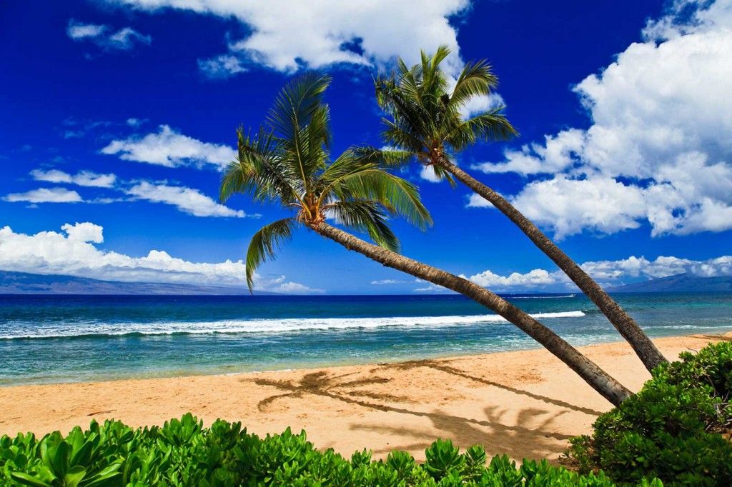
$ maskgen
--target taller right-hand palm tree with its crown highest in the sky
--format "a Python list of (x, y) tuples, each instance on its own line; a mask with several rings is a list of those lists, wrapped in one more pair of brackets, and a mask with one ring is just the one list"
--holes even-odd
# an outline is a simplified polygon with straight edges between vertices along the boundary
[(498, 80), (486, 61), (477, 61), (463, 68), (455, 87), (449, 91), (450, 80), (440, 69), (441, 61), (449, 53), (444, 46), (438, 48), (431, 58), (422, 52), (421, 64), (411, 68), (400, 59), (396, 74), (376, 79), (376, 99), (390, 116), (384, 118), (384, 139), (395, 150), (366, 147), (359, 149), (359, 154), (365, 160), (392, 165), (417, 159), (452, 186), (455, 185), (453, 178), (458, 179), (508, 216), (577, 284), (630, 343), (647, 369), (654, 369), (665, 362), (666, 359), (635, 320), (556, 243), (506, 198), (455, 165), (454, 154), (477, 140), (507, 140), (518, 133), (504, 116), (504, 107), (494, 107), (477, 116), (463, 118), (461, 110), (468, 100), (490, 94)]

